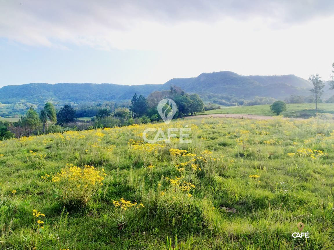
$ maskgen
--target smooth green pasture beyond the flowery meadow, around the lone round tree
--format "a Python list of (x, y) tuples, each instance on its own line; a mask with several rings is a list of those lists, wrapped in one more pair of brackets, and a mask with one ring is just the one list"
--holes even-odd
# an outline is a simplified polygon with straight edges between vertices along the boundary
[[(334, 103), (319, 103), (319, 113), (334, 114)], [(238, 107), (224, 107), (216, 110), (205, 111), (205, 114), (252, 114), (252, 115), (270, 115), (273, 112), (270, 110), (270, 105), (256, 105), (256, 106), (238, 106)], [(294, 118), (309, 118), (315, 116), (314, 103), (302, 104), (287, 104), (287, 110), (282, 113), (285, 117)]]

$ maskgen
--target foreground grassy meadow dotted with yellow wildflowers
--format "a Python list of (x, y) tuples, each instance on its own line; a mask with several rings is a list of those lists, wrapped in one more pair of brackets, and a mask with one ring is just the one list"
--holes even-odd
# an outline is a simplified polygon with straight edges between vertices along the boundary
[[(142, 141), (186, 125), (192, 143)], [(334, 246), (334, 125), (315, 119), (23, 137), (1, 141), (0, 164), (0, 249)], [(309, 238), (292, 237), (298, 222)]]

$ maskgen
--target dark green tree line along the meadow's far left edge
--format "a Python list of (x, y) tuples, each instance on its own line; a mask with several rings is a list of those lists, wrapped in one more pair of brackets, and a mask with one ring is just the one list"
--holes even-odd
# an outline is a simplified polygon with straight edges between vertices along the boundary
[[(129, 108), (115, 107), (115, 103), (99, 105), (95, 116), (90, 122), (77, 120), (77, 112), (71, 105), (63, 105), (56, 110), (51, 102), (45, 103), (38, 113), (32, 106), (18, 122), (0, 123), (0, 139), (41, 134), (63, 132), (66, 130), (83, 130), (103, 127), (126, 126), (157, 122), (161, 117), (157, 111), (157, 104), (164, 98), (171, 98), (177, 104), (174, 118), (204, 112), (204, 103), (197, 94), (187, 94), (177, 87), (168, 91), (156, 91), (147, 98), (135, 93)], [(80, 128), (78, 128), (80, 126)]]

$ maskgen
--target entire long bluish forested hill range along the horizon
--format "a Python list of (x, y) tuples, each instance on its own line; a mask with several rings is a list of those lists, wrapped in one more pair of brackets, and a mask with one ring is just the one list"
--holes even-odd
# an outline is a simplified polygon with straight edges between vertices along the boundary
[(153, 91), (179, 86), (188, 93), (198, 93), (204, 99), (210, 95), (252, 99), (255, 96), (284, 99), (291, 94), (310, 95), (310, 83), (295, 75), (242, 76), (230, 71), (202, 73), (194, 78), (175, 78), (165, 84), (118, 85), (93, 83), (30, 83), (4, 86), (0, 89), (3, 104), (28, 102), (41, 105), (129, 100), (133, 94), (147, 96)]

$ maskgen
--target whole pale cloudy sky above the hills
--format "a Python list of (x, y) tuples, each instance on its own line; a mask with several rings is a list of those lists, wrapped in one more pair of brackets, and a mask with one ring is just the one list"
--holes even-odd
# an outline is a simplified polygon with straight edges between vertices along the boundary
[(331, 75), (332, 0), (0, 0), (0, 87)]

